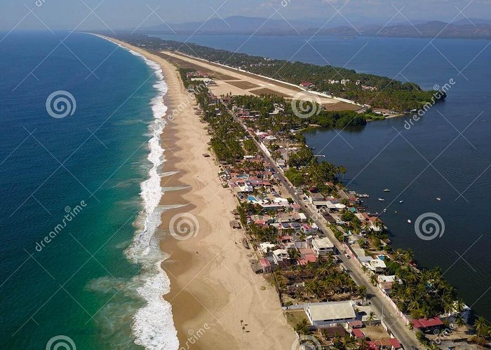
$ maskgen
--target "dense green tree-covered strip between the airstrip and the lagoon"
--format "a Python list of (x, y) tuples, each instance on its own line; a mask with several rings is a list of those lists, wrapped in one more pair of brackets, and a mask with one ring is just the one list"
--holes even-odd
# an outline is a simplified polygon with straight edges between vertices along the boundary
[[(369, 104), (399, 112), (421, 109), (424, 104), (431, 102), (433, 95), (436, 94), (434, 90), (422, 90), (415, 83), (402, 83), (399, 80), (384, 76), (356, 73), (352, 69), (335, 66), (318, 66), (303, 62), (288, 62), (282, 59), (268, 59), (239, 52), (217, 50), (193, 43), (180, 43), (147, 36), (124, 36), (123, 40), (136, 44), (144, 42), (147, 48), (157, 50), (178, 50), (187, 55), (237, 67), (295, 85), (309, 81), (314, 84), (312, 88), (316, 91), (330, 92), (337, 97), (351, 99), (360, 104)], [(330, 83), (330, 80), (337, 83)], [(349, 82), (342, 84), (341, 80), (349, 80)], [(362, 86), (370, 88), (363, 89)], [(373, 90), (370, 90), (371, 88)], [(441, 98), (444, 99), (445, 94), (442, 93)]]

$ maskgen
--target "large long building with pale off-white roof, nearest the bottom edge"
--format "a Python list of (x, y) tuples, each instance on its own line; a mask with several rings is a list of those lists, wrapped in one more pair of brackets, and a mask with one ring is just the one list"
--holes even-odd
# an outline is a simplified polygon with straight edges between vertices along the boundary
[(311, 325), (316, 327), (332, 323), (348, 323), (356, 319), (356, 313), (350, 301), (312, 302), (305, 307), (305, 314)]

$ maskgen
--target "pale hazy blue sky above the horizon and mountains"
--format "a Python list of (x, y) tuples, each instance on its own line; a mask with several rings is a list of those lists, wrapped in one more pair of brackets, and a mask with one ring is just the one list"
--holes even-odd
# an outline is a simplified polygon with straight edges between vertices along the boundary
[(491, 0), (0, 0), (2, 31), (135, 29), (232, 15), (332, 25), (491, 20)]

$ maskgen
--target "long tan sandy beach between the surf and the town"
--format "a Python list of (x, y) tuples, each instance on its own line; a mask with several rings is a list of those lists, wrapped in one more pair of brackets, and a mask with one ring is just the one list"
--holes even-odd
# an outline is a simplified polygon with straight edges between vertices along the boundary
[[(168, 125), (162, 143), (166, 162), (161, 205), (182, 204), (165, 211), (159, 228), (161, 249), (170, 255), (162, 267), (170, 293), (180, 349), (290, 349), (295, 333), (286, 324), (276, 291), (248, 260), (242, 233), (229, 221), (236, 200), (222, 188), (218, 167), (209, 153), (205, 125), (194, 113), (176, 67), (161, 57), (124, 45), (160, 64), (168, 93)], [(173, 113), (174, 111), (174, 113)], [(168, 118), (168, 117), (167, 117)], [(175, 239), (170, 230), (192, 229)], [(186, 236), (186, 239), (183, 237)]]

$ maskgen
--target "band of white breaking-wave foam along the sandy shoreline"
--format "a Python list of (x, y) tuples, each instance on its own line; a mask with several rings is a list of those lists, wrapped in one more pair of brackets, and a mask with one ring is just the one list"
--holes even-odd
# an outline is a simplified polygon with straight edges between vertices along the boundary
[(162, 297), (170, 288), (168, 276), (161, 269), (161, 262), (167, 257), (161, 252), (159, 241), (154, 237), (161, 224), (161, 214), (166, 210), (166, 207), (159, 207), (163, 195), (159, 169), (165, 161), (164, 150), (161, 147), (161, 133), (166, 125), (163, 117), (166, 115), (167, 106), (163, 103), (163, 95), (166, 94), (168, 87), (163, 80), (159, 64), (146, 59), (138, 52), (129, 51), (144, 59), (158, 78), (154, 85), (158, 94), (151, 102), (154, 121), (149, 125), (152, 138), (149, 140), (147, 159), (152, 167), (149, 169), (148, 179), (141, 184), (143, 210), (135, 221), (137, 235), (126, 251), (128, 258), (142, 266), (142, 272), (135, 276), (133, 281), (139, 282), (137, 293), (146, 302), (144, 307), (137, 309), (133, 316), (133, 335), (135, 343), (146, 349), (175, 350), (179, 348), (177, 331), (170, 304)]

